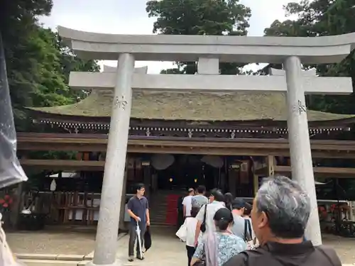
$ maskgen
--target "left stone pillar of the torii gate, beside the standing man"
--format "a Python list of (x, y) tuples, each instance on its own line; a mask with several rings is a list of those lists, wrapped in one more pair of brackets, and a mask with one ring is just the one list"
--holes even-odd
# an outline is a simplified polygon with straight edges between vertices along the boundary
[(121, 195), (129, 138), (133, 69), (133, 55), (121, 54), (117, 66), (116, 87), (114, 88), (114, 101), (112, 103), (109, 142), (94, 250), (94, 265), (119, 265), (119, 262), (116, 262), (117, 232), (119, 230)]

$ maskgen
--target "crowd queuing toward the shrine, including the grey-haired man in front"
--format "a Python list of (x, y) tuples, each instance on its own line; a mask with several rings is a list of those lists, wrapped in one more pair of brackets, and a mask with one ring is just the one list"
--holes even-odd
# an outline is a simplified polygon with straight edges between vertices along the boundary
[(265, 179), (253, 205), (203, 186), (181, 202), (188, 266), (341, 266), (332, 248), (305, 240), (310, 198), (288, 177)]

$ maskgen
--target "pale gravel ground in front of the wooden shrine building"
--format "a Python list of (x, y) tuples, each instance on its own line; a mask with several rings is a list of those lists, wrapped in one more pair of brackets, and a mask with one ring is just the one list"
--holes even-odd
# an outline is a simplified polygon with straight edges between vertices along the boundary
[[(153, 247), (150, 253), (157, 251), (157, 255), (161, 256), (159, 250), (163, 250), (163, 247), (169, 245), (171, 247), (170, 251), (173, 251), (178, 257), (183, 256), (185, 258), (185, 246), (181, 245), (178, 239), (174, 237), (175, 232), (171, 230), (170, 232), (166, 229), (163, 231), (157, 229), (154, 228), (152, 232)], [(72, 229), (67, 229), (61, 231), (6, 233), (6, 235), (13, 253), (87, 255), (94, 250), (94, 231), (73, 231)], [(120, 240), (120, 257), (125, 257), (126, 255), (126, 243), (124, 242), (127, 240), (128, 238)], [(324, 234), (323, 243), (337, 250), (343, 263), (355, 263), (355, 238), (342, 238), (337, 235)], [(155, 256), (153, 255), (153, 257)]]

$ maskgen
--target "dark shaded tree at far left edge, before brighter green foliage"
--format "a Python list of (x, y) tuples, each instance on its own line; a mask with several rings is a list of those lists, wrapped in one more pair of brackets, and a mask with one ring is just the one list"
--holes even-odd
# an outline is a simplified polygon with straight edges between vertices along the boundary
[(38, 53), (35, 16), (48, 15), (52, 1), (0, 2), (0, 32), (4, 41), (7, 74), (15, 118), (24, 118), (23, 106), (31, 106), (31, 93), (38, 84)]

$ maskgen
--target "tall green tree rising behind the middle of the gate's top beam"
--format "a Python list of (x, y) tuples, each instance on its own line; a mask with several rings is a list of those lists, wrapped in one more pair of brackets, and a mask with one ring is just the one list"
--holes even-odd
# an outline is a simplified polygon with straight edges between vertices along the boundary
[[(165, 35), (246, 35), (251, 10), (239, 0), (153, 0), (146, 11), (156, 18), (153, 33)], [(224, 63), (221, 74), (237, 74), (244, 64)], [(196, 62), (177, 62), (162, 74), (195, 74)]]

